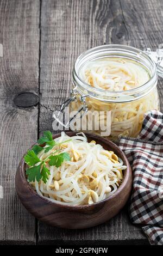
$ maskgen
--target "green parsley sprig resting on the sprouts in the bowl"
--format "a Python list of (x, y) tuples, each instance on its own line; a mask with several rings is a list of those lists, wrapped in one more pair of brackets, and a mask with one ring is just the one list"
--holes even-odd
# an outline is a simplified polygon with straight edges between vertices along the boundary
[(59, 146), (62, 143), (69, 141), (71, 141), (71, 139), (57, 143), (53, 140), (52, 133), (50, 131), (43, 132), (43, 136), (39, 138), (38, 143), (45, 143), (45, 146), (41, 147), (40, 145), (34, 145), (34, 147), (31, 150), (28, 150), (27, 154), (24, 156), (24, 161), (29, 166), (29, 168), (26, 170), (28, 180), (33, 182), (35, 182), (35, 180), (37, 182), (40, 180), (42, 180), (44, 183), (47, 182), (48, 175), (50, 174), (48, 168), (46, 168), (47, 160), (49, 160), (48, 163), (50, 166), (56, 166), (57, 168), (61, 166), (62, 162), (70, 161), (70, 155), (66, 152), (60, 153), (59, 149), (55, 150), (45, 160), (41, 160), (37, 156), (37, 154), (39, 154), (39, 152), (42, 150), (47, 153), (49, 150), (53, 149), (54, 146)]

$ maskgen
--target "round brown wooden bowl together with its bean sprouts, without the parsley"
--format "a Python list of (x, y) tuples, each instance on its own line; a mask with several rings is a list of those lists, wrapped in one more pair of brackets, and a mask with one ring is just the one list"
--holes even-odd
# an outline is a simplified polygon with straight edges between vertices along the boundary
[[(27, 171), (32, 167), (22, 159), (15, 182), (23, 205), (39, 220), (62, 228), (93, 227), (115, 216), (126, 204), (132, 183), (131, 168), (122, 150), (96, 135), (67, 132), (55, 135), (53, 139), (60, 144), (57, 146), (61, 150), (58, 155), (67, 153), (70, 159), (62, 161), (59, 167), (51, 166), (52, 162), (47, 163), (47, 182), (43, 182), (42, 178), (39, 180), (38, 176), (38, 181), (32, 181)], [(48, 147), (43, 146), (45, 149)], [(40, 150), (37, 154), (42, 161), (41, 170), (43, 161), (47, 161), (54, 149), (46, 153)], [(74, 153), (76, 151), (79, 155)], [(36, 163), (36, 166), (39, 165), (40, 162)], [(109, 174), (106, 174), (106, 170)]]

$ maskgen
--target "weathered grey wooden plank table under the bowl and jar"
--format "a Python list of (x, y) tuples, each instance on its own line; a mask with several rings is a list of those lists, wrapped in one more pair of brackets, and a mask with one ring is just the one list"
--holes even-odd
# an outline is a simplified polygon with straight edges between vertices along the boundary
[[(162, 20), (162, 0), (0, 1), (1, 244), (148, 244), (125, 209), (95, 228), (48, 227), (23, 208), (14, 179), (24, 152), (52, 130), (79, 54), (104, 44), (155, 50), (163, 42)], [(158, 87), (162, 106), (161, 80)]]

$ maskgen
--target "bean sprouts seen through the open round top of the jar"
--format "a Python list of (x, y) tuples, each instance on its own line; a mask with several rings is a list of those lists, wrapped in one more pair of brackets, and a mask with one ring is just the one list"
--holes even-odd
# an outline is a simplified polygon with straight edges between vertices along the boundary
[(150, 78), (142, 65), (122, 58), (89, 61), (80, 69), (79, 76), (90, 86), (109, 91), (131, 90)]

